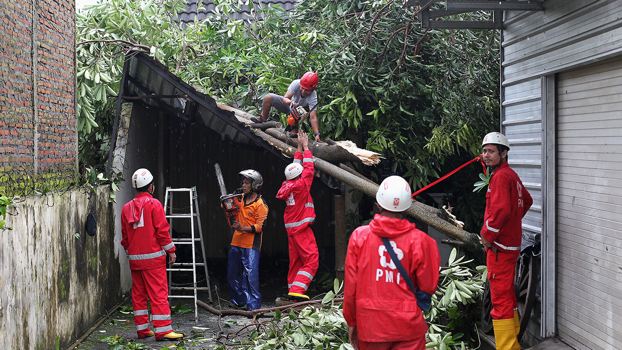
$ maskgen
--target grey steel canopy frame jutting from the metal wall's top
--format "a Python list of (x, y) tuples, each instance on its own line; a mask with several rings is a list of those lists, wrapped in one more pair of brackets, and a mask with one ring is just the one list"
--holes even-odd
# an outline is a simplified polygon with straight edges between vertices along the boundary
[[(503, 11), (544, 11), (543, 0), (407, 0), (404, 6), (420, 6), (419, 21), (422, 28), (429, 29), (502, 29)], [(444, 9), (430, 9), (445, 4)], [(492, 21), (455, 21), (442, 17), (466, 12), (491, 11)]]

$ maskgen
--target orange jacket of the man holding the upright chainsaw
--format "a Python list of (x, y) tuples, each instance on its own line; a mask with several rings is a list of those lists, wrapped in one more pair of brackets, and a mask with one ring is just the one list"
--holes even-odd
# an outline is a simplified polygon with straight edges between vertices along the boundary
[(236, 230), (231, 239), (231, 245), (241, 248), (261, 249), (261, 233), (263, 232), (264, 221), (268, 216), (268, 206), (264, 203), (261, 194), (258, 193), (257, 198), (244, 205), (244, 201), (239, 197), (235, 197), (238, 201), (239, 211), (236, 215), (236, 221), (242, 226), (250, 226), (253, 232), (242, 232)]

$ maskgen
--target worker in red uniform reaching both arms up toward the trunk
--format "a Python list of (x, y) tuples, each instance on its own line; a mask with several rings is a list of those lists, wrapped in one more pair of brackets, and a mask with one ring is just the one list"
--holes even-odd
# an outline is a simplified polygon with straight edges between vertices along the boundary
[[(304, 153), (303, 153), (304, 150)], [(285, 167), (285, 181), (276, 197), (285, 201), (285, 231), (289, 244), (287, 299), (309, 300), (307, 289), (317, 272), (319, 256), (310, 225), (315, 221), (315, 209), (310, 189), (313, 182), (313, 154), (309, 138), (300, 133), (294, 163)]]

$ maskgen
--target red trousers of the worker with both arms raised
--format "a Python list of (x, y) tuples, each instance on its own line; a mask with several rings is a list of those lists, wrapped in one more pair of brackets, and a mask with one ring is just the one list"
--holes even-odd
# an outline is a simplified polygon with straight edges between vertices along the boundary
[(315, 236), (311, 228), (307, 227), (301, 234), (287, 237), (287, 241), (289, 244), (289, 272), (287, 272), (289, 293), (306, 294), (319, 265)]

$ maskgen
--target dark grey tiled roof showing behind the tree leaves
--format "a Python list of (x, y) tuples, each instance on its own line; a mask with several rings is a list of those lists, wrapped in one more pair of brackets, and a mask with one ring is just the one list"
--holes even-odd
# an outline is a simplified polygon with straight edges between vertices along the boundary
[[(295, 5), (295, 0), (267, 0), (261, 1), (261, 6), (259, 4), (259, 0), (253, 0), (254, 8), (256, 9), (256, 13), (258, 16), (261, 16), (261, 9), (266, 6), (274, 6), (278, 5), (284, 9), (285, 12), (289, 12)], [(214, 8), (216, 7), (214, 4), (214, 0), (206, 0), (202, 2), (204, 9), (198, 11), (197, 9), (197, 0), (188, 0), (188, 3), (184, 6), (186, 12), (180, 12), (175, 21), (181, 22), (183, 24), (192, 23), (195, 20), (202, 21), (205, 17), (213, 15)], [(247, 19), (251, 16), (251, 10), (248, 5), (242, 5), (238, 12), (233, 12), (230, 14), (231, 19)]]

